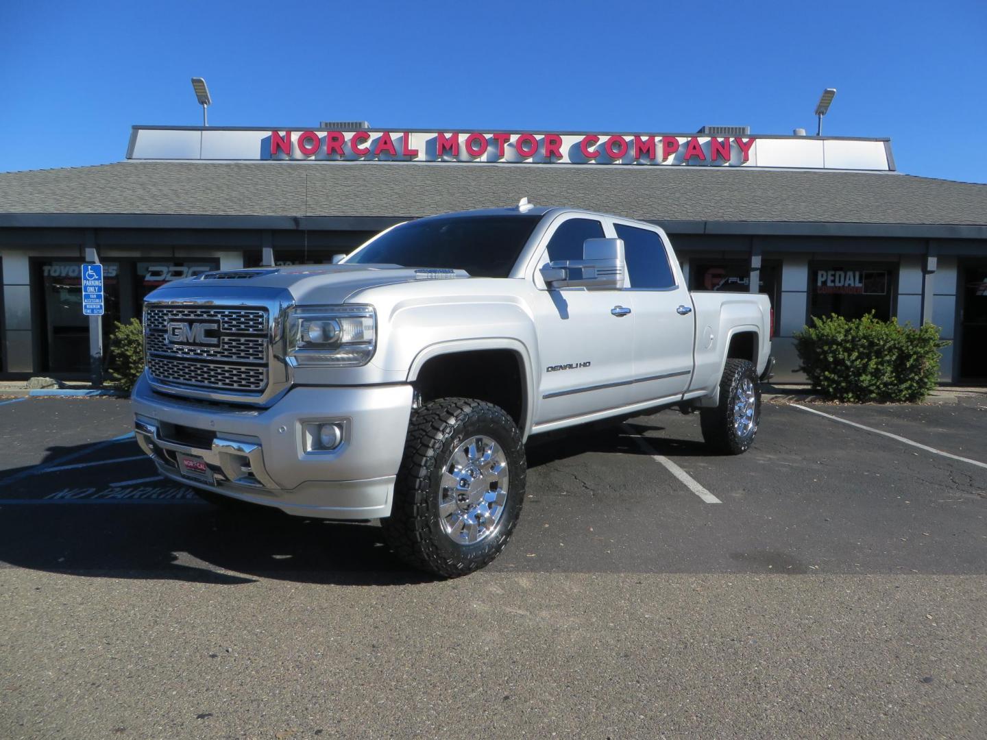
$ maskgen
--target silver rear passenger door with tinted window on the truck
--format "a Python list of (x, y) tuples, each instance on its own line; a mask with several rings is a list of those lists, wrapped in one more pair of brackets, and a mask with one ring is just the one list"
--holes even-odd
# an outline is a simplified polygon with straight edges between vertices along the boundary
[(624, 240), (634, 301), (633, 363), (637, 402), (685, 393), (693, 370), (695, 312), (680, 272), (657, 231), (614, 221)]

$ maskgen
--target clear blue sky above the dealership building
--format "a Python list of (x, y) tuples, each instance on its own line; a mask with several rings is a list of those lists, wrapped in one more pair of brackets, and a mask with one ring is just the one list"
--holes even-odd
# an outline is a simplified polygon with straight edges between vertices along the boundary
[(122, 160), (130, 125), (889, 136), (987, 183), (987, 2), (10, 2), (0, 171)]

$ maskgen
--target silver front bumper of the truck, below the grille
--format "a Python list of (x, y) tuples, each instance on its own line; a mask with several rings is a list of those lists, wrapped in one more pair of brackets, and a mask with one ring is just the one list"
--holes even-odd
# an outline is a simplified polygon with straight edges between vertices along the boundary
[[(391, 513), (411, 386), (300, 387), (271, 407), (252, 408), (163, 396), (142, 377), (131, 399), (138, 444), (172, 480), (298, 516), (366, 520)], [(342, 422), (342, 444), (306, 452), (306, 421)], [(183, 477), (179, 455), (203, 460), (214, 484)]]

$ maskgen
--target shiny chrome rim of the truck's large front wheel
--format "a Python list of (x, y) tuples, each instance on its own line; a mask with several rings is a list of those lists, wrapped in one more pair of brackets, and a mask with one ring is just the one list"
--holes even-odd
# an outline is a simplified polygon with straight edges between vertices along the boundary
[(445, 534), (460, 545), (489, 537), (503, 516), (509, 482), (500, 445), (486, 436), (466, 439), (442, 474), (438, 515)]

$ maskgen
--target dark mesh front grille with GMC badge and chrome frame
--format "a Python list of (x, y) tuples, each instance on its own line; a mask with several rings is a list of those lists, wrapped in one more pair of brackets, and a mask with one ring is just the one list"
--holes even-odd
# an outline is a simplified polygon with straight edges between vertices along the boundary
[(148, 306), (144, 314), (147, 369), (160, 385), (263, 393), (268, 342), (262, 308)]

